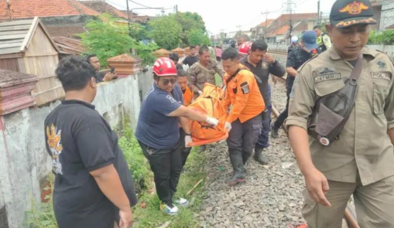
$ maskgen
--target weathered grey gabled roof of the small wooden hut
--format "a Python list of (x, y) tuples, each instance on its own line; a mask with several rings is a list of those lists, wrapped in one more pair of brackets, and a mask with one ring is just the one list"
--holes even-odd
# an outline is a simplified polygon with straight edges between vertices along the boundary
[(38, 25), (46, 33), (55, 49), (59, 51), (44, 25), (38, 17), (34, 17), (33, 19), (0, 22), (0, 55), (24, 52)]

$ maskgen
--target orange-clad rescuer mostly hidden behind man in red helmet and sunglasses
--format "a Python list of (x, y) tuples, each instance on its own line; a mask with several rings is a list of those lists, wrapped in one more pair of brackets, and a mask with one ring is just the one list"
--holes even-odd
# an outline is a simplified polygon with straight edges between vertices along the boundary
[[(183, 95), (183, 102), (185, 106), (188, 106), (192, 103), (194, 93), (193, 93), (193, 86), (188, 81), (188, 73), (183, 69), (177, 69), (176, 74), (176, 81), (181, 87), (182, 95)], [(182, 167), (185, 166), (186, 159), (188, 158), (192, 147), (186, 147), (185, 136), (186, 133), (182, 128), (179, 128), (179, 135), (181, 140), (181, 158), (182, 158)]]

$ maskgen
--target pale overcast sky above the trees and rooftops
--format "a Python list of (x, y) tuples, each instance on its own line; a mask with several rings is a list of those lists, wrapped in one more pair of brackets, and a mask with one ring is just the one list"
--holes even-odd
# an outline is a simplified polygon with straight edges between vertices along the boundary
[[(126, 0), (106, 0), (119, 9), (126, 9)], [(174, 5), (178, 4), (178, 11), (197, 12), (202, 16), (206, 29), (212, 33), (238, 31), (240, 26), (242, 31), (248, 31), (251, 27), (255, 27), (265, 21), (265, 12), (268, 19), (275, 19), (282, 14), (282, 10), (286, 8), (284, 5), (288, 0), (133, 0), (148, 7), (164, 7), (171, 8), (165, 10), (165, 13), (174, 12)], [(295, 13), (314, 13), (317, 12), (317, 0), (292, 0), (293, 10)], [(325, 15), (329, 14), (330, 8), (335, 0), (321, 0), (321, 11)], [(231, 3), (230, 3), (231, 2)], [(129, 1), (129, 7), (141, 8), (141, 5)], [(140, 15), (155, 16), (161, 14), (158, 9), (133, 9)]]

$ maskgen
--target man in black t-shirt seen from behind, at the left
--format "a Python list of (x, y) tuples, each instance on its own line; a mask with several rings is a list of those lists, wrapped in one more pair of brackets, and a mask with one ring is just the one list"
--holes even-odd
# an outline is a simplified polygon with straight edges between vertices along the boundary
[(60, 61), (56, 75), (66, 98), (45, 119), (52, 158), (53, 205), (59, 228), (129, 228), (136, 204), (131, 173), (118, 136), (91, 104), (94, 70), (80, 57)]

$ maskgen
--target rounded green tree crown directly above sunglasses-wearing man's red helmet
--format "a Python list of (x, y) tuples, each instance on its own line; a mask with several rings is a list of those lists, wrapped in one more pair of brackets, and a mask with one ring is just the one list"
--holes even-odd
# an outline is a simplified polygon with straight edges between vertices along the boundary
[(149, 37), (160, 47), (172, 50), (181, 43), (182, 27), (172, 16), (162, 16), (148, 22)]

